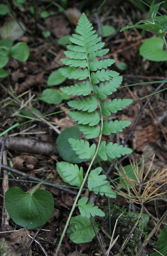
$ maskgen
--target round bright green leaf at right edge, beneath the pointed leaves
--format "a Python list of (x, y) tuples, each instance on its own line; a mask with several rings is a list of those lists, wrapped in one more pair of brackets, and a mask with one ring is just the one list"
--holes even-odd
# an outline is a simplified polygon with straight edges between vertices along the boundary
[(149, 38), (140, 46), (140, 55), (151, 61), (166, 61), (167, 49), (163, 49), (164, 41), (160, 37)]

